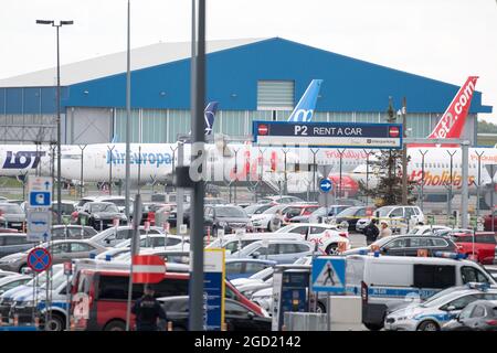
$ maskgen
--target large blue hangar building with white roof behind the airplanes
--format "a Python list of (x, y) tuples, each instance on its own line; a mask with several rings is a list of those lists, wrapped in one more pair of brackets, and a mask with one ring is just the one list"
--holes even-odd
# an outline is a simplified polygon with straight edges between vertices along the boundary
[[(219, 101), (214, 132), (247, 136), (252, 120), (286, 120), (313, 78), (322, 78), (315, 121), (381, 122), (389, 97), (408, 98), (408, 130), (426, 137), (466, 79), (448, 84), (281, 38), (211, 41), (207, 100)], [(190, 43), (131, 52), (133, 142), (172, 142), (190, 131)], [(126, 53), (61, 67), (63, 143), (124, 141)], [(467, 75), (472, 73), (466, 73)], [(465, 75), (466, 75), (465, 74)], [(0, 79), (0, 143), (56, 140), (55, 68)], [(482, 93), (465, 137), (476, 141)]]

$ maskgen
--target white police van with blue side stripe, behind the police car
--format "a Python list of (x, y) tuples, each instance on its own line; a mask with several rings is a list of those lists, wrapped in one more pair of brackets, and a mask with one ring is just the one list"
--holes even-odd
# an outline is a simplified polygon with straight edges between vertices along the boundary
[(424, 300), (453, 286), (496, 280), (470, 260), (441, 257), (347, 256), (347, 293), (362, 297), (362, 323), (380, 330), (389, 306)]

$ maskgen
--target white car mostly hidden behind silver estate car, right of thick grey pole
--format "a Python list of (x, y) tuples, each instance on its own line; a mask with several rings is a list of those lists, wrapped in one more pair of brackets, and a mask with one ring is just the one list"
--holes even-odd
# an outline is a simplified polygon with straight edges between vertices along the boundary
[(230, 234), (222, 238), (216, 238), (205, 248), (222, 247), (226, 249), (226, 255), (236, 253), (242, 247), (247, 246), (257, 240), (302, 240), (303, 236), (295, 233), (245, 233), (243, 235)]

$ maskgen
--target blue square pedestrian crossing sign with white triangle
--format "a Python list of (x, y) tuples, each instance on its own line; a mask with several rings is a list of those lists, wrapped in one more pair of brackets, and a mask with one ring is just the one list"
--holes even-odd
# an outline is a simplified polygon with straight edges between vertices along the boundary
[(346, 259), (339, 256), (321, 256), (313, 260), (313, 290), (334, 293), (345, 292)]

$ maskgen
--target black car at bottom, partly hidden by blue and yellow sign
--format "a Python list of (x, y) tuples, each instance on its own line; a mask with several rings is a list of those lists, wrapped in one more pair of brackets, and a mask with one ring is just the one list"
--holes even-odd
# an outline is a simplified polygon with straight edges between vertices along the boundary
[[(190, 297), (158, 298), (173, 331), (188, 331)], [(225, 299), (224, 321), (228, 331), (271, 331), (271, 319), (258, 315), (244, 304)]]

